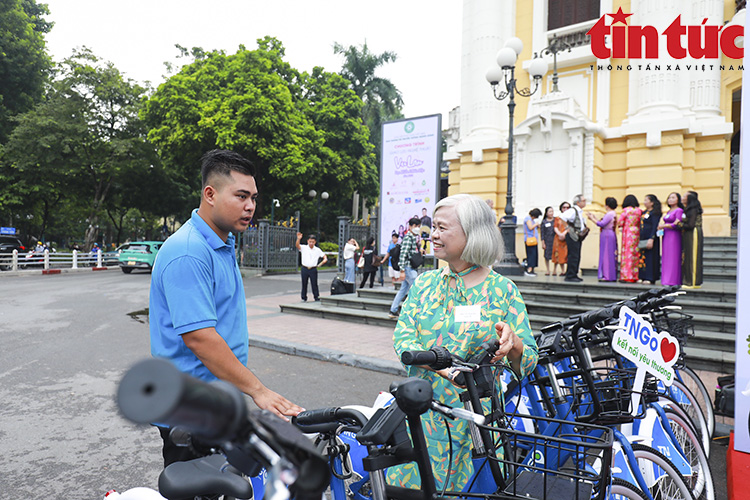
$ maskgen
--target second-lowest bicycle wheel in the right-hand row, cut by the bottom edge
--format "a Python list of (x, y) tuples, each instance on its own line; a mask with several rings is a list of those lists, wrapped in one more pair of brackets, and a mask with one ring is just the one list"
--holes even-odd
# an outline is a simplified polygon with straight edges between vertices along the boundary
[(654, 500), (695, 500), (690, 486), (667, 457), (650, 446), (633, 444), (632, 447)]

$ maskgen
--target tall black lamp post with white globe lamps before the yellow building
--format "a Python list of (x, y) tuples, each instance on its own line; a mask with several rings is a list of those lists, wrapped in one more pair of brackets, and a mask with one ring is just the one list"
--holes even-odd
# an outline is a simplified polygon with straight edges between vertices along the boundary
[[(503, 235), (505, 252), (500, 264), (495, 269), (503, 275), (520, 275), (521, 268), (516, 257), (516, 217), (513, 215), (513, 114), (516, 109), (515, 94), (530, 97), (539, 89), (542, 76), (547, 72), (547, 63), (542, 58), (535, 58), (529, 66), (529, 74), (534, 79), (534, 89), (519, 89), (515, 76), (516, 61), (523, 51), (520, 38), (510, 38), (505, 46), (497, 53), (497, 66), (491, 67), (486, 74), (487, 81), (492, 86), (495, 99), (502, 101), (508, 98), (508, 186), (506, 190), (505, 217), (500, 232)], [(505, 84), (505, 90), (499, 89), (500, 82)]]

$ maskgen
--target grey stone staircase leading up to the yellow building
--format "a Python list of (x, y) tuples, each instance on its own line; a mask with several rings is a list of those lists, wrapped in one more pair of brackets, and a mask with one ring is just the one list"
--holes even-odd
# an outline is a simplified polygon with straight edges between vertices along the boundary
[[(732, 247), (734, 241), (734, 247)], [(688, 290), (676, 304), (693, 316), (695, 337), (685, 347), (694, 369), (734, 373), (735, 309), (737, 300), (736, 238), (707, 238), (704, 250), (704, 286)], [(584, 273), (588, 276), (588, 273)], [(599, 283), (587, 277), (582, 283), (538, 276), (515, 280), (526, 302), (531, 327), (544, 325), (604, 304), (631, 297), (648, 285)], [(388, 309), (395, 296), (389, 287), (360, 289), (346, 295), (321, 296), (320, 302), (282, 305), (282, 312), (378, 326), (395, 326)]]

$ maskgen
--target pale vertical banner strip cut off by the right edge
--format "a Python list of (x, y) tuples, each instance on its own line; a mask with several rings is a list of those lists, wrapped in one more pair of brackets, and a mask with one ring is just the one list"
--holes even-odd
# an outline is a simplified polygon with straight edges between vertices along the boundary
[[(747, 25), (750, 16), (745, 17)], [(741, 123), (750, 123), (750, 77), (742, 74)], [(750, 130), (740, 131), (740, 196), (737, 223), (737, 330), (735, 335), (734, 449), (750, 453)], [(745, 250), (743, 250), (745, 249)]]

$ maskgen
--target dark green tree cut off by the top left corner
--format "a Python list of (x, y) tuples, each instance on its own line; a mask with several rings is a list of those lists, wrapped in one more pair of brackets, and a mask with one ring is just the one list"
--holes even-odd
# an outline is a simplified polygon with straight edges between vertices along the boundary
[(0, 0), (0, 144), (13, 128), (12, 117), (39, 102), (52, 62), (44, 35), (51, 23), (45, 4)]

